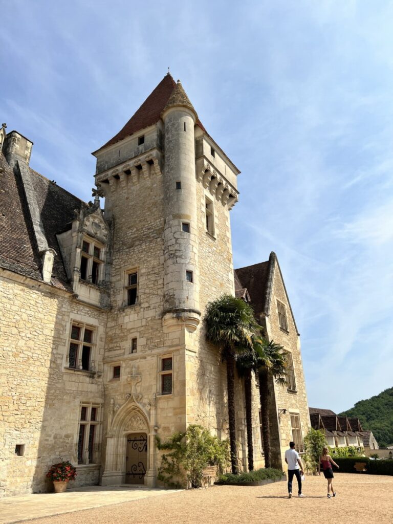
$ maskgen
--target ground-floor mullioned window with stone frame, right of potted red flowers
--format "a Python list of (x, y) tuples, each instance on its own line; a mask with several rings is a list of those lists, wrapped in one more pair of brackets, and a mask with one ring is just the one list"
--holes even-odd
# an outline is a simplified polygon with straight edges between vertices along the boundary
[[(85, 409), (84, 412), (83, 408)], [(92, 417), (93, 409), (95, 409), (94, 417)], [(82, 418), (83, 413), (84, 418)], [(80, 402), (77, 431), (78, 465), (101, 463), (102, 414), (103, 404), (101, 402)], [(83, 433), (81, 432), (81, 427), (84, 428)], [(94, 428), (93, 431), (91, 428)], [(87, 439), (86, 436), (88, 437)]]

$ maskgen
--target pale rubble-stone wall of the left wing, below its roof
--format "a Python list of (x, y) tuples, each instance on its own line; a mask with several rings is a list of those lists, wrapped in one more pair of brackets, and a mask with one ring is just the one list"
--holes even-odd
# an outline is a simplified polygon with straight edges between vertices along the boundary
[(0, 494), (42, 492), (59, 457), (77, 464), (80, 403), (103, 402), (99, 377), (65, 368), (71, 320), (96, 326), (95, 358), (102, 361), (105, 314), (17, 275), (0, 286)]

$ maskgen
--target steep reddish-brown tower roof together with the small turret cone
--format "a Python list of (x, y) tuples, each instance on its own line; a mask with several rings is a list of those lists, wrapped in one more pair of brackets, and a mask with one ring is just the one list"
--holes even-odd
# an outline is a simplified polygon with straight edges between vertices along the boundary
[[(180, 81), (176, 83), (173, 80), (172, 75), (167, 73), (161, 82), (157, 85), (156, 89), (150, 93), (145, 102), (129, 119), (126, 125), (113, 138), (108, 140), (106, 144), (94, 151), (93, 155), (97, 151), (100, 151), (100, 149), (111, 146), (112, 144), (116, 144), (116, 142), (123, 140), (127, 136), (133, 135), (140, 129), (145, 129), (152, 124), (155, 124), (159, 121), (162, 111), (167, 107), (174, 105), (189, 107), (196, 116), (196, 111), (189, 101), (187, 94), (185, 94)], [(205, 131), (205, 128), (199, 119), (197, 119), (196, 124), (198, 124), (201, 129)]]

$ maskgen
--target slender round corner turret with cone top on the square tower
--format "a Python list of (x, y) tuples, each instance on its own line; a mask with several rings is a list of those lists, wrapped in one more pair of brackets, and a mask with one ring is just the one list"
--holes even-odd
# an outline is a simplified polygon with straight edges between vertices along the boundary
[(194, 126), (198, 115), (180, 81), (161, 117), (165, 126), (164, 329), (200, 321)]

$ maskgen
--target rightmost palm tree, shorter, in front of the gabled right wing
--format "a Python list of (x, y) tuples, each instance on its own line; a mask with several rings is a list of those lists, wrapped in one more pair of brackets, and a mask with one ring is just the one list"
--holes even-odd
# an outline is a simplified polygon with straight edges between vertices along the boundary
[(259, 398), (262, 415), (262, 434), (265, 453), (265, 467), (270, 467), (270, 430), (269, 430), (269, 408), (268, 394), (269, 378), (273, 377), (276, 384), (285, 386), (286, 379), (286, 357), (283, 347), (273, 341), (262, 340), (254, 344), (256, 353), (256, 369), (259, 376)]

